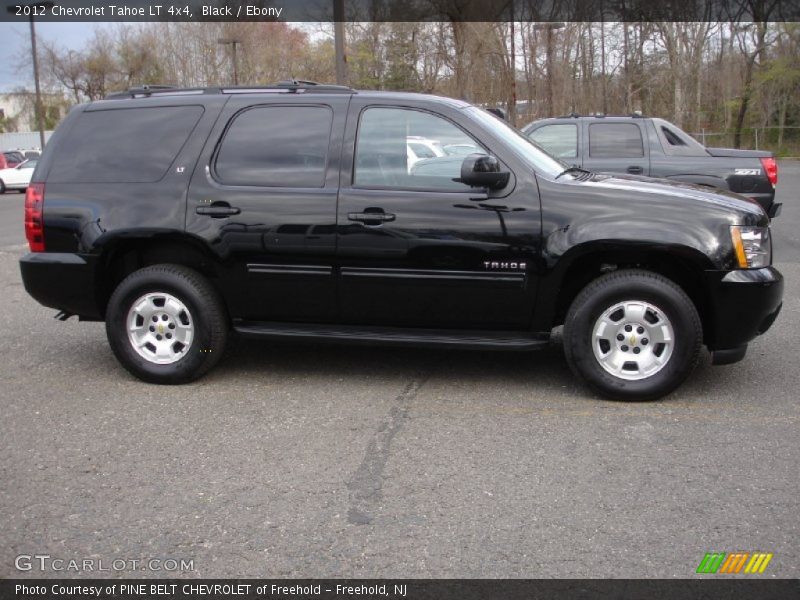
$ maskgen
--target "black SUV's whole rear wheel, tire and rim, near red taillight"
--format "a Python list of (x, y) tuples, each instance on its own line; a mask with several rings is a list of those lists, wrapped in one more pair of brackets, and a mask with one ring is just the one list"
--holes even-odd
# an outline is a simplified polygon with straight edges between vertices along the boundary
[[(166, 329), (166, 325), (160, 327), (160, 330), (163, 329), (161, 334), (165, 337), (163, 342), (158, 342), (159, 345), (172, 344), (168, 353), (171, 354), (169, 360), (174, 362), (168, 364), (154, 362), (158, 360), (155, 356), (154, 340), (149, 345), (152, 352), (147, 344), (139, 351), (134, 348), (128, 334), (129, 319), (144, 322), (138, 313), (131, 312), (134, 304), (142, 306), (137, 300), (152, 297), (155, 307), (160, 300), (160, 294), (171, 296), (186, 309), (180, 312), (174, 323), (167, 315), (153, 315), (158, 317), (156, 326), (162, 325), (160, 319), (167, 316), (164, 322), (171, 328)], [(170, 302), (170, 305), (176, 304)], [(179, 319), (185, 321), (185, 324), (178, 323)], [(149, 319), (147, 325), (150, 331), (154, 331)], [(178, 329), (173, 325), (178, 325)], [(177, 337), (181, 327), (185, 332), (191, 332), (191, 339), (187, 339), (186, 344), (177, 340), (167, 342), (166, 337), (171, 338), (173, 331)], [(180, 265), (154, 265), (131, 273), (114, 290), (106, 310), (106, 335), (114, 355), (131, 374), (150, 383), (187, 383), (207, 373), (225, 351), (228, 329), (225, 306), (219, 294), (198, 272)], [(149, 335), (141, 331), (144, 335)], [(162, 337), (158, 339), (162, 340)], [(149, 354), (150, 357), (140, 352)]]

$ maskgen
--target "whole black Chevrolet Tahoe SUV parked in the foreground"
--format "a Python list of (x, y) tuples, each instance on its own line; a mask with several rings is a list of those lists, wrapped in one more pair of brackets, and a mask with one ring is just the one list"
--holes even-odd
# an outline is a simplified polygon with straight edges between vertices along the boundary
[(783, 293), (742, 196), (569, 167), (459, 100), (307, 82), (75, 107), (25, 228), (27, 291), (104, 320), (155, 383), (200, 377), (232, 332), (528, 350), (563, 324), (591, 388), (652, 399), (703, 344), (740, 360)]

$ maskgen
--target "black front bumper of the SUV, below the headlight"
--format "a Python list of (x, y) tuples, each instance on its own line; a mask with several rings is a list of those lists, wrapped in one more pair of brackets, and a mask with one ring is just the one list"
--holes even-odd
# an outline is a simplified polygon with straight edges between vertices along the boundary
[(744, 346), (766, 332), (781, 310), (783, 275), (774, 267), (706, 271), (706, 283), (706, 344), (711, 351)]

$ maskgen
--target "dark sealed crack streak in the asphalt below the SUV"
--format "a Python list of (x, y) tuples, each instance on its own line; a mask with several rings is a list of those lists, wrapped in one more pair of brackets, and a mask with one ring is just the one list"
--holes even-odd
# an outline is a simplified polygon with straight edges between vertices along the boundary
[(394, 406), (389, 411), (389, 416), (378, 427), (369, 444), (364, 458), (356, 469), (347, 489), (350, 490), (350, 508), (347, 511), (347, 521), (352, 525), (369, 525), (372, 523), (375, 509), (383, 498), (383, 471), (389, 460), (389, 451), (392, 440), (397, 432), (402, 429), (411, 401), (430, 377), (430, 373), (415, 377), (403, 391), (395, 398)]

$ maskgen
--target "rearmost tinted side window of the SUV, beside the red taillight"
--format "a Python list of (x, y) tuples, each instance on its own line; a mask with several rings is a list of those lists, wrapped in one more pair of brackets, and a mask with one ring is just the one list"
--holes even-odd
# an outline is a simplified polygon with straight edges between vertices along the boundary
[(166, 175), (203, 114), (202, 106), (86, 111), (55, 155), (58, 183), (152, 183)]

